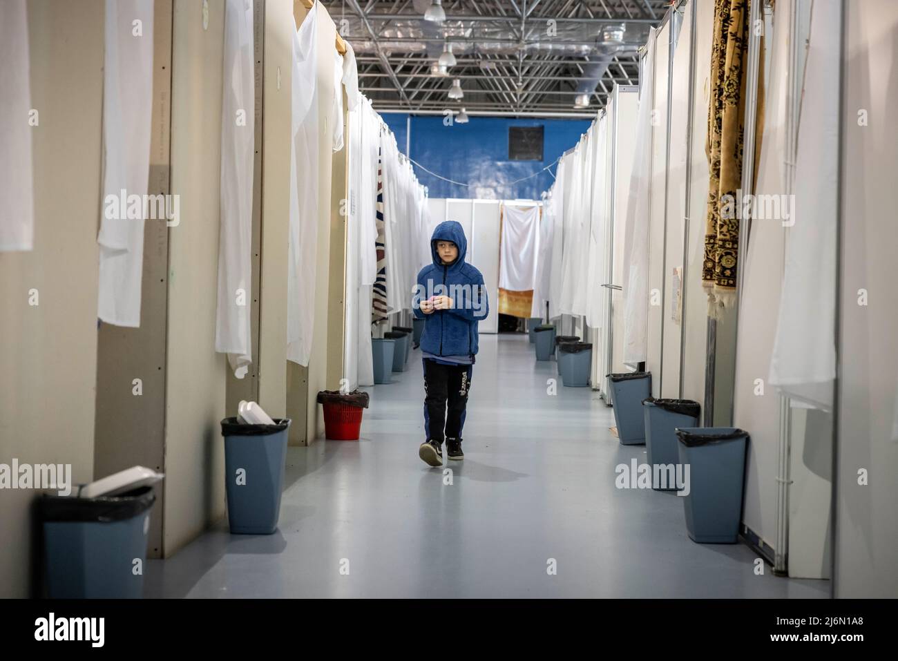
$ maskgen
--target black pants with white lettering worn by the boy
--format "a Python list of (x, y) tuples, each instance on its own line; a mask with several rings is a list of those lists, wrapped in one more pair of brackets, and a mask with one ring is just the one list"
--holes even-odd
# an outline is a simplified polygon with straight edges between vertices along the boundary
[(424, 358), (424, 433), (427, 441), (461, 438), (472, 365), (442, 365)]

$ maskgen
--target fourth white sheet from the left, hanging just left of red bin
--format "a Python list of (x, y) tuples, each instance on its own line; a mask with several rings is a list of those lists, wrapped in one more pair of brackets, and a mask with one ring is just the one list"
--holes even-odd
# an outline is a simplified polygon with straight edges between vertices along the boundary
[[(287, 360), (312, 354), (318, 244), (318, 3), (295, 31), (291, 75), (290, 243), (287, 262)], [(327, 137), (330, 144), (330, 137)]]

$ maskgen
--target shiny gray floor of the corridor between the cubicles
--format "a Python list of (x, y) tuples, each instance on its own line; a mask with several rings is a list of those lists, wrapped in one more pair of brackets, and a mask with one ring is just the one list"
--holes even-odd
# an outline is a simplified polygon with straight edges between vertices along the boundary
[[(524, 335), (484, 335), (463, 462), (418, 459), (419, 352), (370, 389), (362, 440), (291, 448), (277, 533), (226, 521), (170, 560), (150, 560), (150, 597), (824, 597), (828, 581), (753, 571), (741, 544), (687, 537), (682, 499), (616, 489), (623, 446), (588, 388), (558, 387)], [(550, 575), (550, 559), (557, 574)], [(348, 573), (346, 569), (348, 568)], [(342, 569), (342, 573), (341, 573)]]

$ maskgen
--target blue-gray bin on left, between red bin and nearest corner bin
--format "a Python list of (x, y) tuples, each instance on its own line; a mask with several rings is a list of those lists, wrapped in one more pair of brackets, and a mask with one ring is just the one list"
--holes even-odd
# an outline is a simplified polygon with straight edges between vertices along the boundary
[(225, 418), (221, 424), (231, 532), (274, 533), (284, 490), (290, 419), (275, 419), (274, 425), (247, 425)]

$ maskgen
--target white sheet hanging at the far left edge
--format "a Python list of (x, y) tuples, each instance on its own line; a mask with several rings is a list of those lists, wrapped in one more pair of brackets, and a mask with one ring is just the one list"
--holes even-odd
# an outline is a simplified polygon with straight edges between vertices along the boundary
[(0, 252), (34, 248), (31, 84), (25, 0), (0, 4)]

